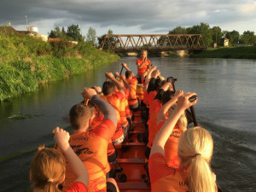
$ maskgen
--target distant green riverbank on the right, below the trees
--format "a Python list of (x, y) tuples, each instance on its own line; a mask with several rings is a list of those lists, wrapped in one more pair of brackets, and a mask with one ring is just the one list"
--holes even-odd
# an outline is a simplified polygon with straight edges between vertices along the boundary
[(192, 53), (189, 56), (200, 58), (256, 59), (256, 46), (211, 48), (197, 54)]

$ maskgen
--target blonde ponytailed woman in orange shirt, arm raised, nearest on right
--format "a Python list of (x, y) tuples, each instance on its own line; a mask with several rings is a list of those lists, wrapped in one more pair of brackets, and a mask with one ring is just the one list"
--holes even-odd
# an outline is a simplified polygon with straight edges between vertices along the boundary
[(216, 177), (209, 165), (212, 158), (213, 142), (211, 134), (197, 126), (184, 131), (178, 143), (179, 168), (169, 167), (165, 159), (165, 144), (177, 120), (195, 93), (185, 93), (177, 99), (177, 107), (154, 138), (148, 161), (151, 191), (217, 191)]

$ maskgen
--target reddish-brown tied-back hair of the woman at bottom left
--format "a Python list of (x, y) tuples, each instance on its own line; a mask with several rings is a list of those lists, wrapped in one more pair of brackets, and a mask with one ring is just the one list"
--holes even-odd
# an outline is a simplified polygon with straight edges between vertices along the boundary
[(66, 162), (54, 148), (38, 147), (31, 162), (32, 190), (43, 189), (47, 192), (59, 192), (58, 183), (65, 176)]

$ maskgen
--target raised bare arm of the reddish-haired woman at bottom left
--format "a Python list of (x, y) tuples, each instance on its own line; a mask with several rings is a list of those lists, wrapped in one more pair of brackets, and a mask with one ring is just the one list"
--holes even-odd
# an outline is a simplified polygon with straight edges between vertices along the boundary
[(60, 129), (59, 127), (55, 128), (55, 142), (58, 144), (62, 152), (65, 154), (67, 162), (70, 165), (76, 177), (75, 182), (84, 183), (84, 185), (87, 187), (89, 181), (89, 174), (83, 162), (79, 159), (78, 155), (75, 154), (73, 149), (70, 147), (68, 143), (69, 137), (70, 136), (67, 131)]

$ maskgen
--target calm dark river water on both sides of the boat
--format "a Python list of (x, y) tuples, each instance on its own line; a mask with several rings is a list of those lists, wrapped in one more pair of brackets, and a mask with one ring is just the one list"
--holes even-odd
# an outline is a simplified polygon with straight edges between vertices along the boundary
[[(256, 61), (235, 59), (149, 58), (162, 76), (177, 78), (176, 90), (193, 91), (199, 125), (212, 133), (212, 171), (223, 191), (256, 190)], [(50, 84), (0, 103), (0, 191), (26, 191), (29, 164), (38, 144), (54, 144), (55, 126), (67, 130), (68, 111), (82, 101), (84, 86), (102, 85), (105, 71), (126, 62), (136, 72), (136, 57)], [(20, 114), (26, 119), (11, 119)], [(8, 160), (3, 157), (9, 156)]]

